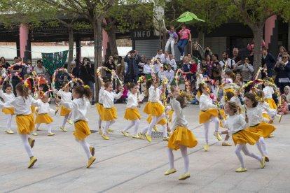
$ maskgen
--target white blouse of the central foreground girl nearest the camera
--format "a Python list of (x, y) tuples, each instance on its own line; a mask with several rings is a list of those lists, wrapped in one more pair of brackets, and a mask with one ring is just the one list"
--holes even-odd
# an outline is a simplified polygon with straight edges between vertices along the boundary
[(177, 129), (177, 127), (185, 127), (188, 128), (188, 122), (185, 119), (184, 109), (181, 108), (179, 101), (175, 98), (171, 101), (172, 109), (174, 110), (172, 115), (172, 128), (173, 130)]

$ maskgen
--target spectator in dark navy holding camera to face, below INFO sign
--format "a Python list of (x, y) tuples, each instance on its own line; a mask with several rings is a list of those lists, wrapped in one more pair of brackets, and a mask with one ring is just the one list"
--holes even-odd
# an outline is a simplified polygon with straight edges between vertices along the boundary
[(138, 64), (141, 61), (141, 57), (136, 50), (131, 50), (125, 56), (124, 61), (127, 62), (127, 81), (137, 84), (139, 76)]

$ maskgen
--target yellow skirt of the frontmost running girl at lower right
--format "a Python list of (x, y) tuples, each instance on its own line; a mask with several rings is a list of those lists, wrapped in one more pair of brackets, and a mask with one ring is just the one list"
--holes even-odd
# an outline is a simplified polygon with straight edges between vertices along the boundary
[(232, 135), (233, 142), (235, 145), (237, 144), (246, 144), (249, 143), (250, 145), (254, 145), (260, 136), (252, 131), (249, 130), (242, 130), (237, 132), (236, 134)]

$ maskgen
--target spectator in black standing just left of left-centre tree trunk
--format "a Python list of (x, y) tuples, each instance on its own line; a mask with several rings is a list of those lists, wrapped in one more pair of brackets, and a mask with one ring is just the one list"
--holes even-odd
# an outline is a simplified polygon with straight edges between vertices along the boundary
[(94, 65), (90, 62), (88, 57), (83, 58), (83, 63), (81, 64), (81, 75), (80, 78), (83, 80), (84, 85), (88, 85), (90, 90), (92, 90), (92, 104), (95, 103), (95, 77), (94, 77)]

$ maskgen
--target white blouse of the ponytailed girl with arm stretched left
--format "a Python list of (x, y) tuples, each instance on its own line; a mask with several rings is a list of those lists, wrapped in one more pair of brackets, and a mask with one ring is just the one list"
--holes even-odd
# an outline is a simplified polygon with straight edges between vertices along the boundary
[(87, 119), (87, 113), (90, 109), (90, 101), (86, 98), (74, 99), (71, 102), (60, 101), (60, 104), (72, 110), (74, 122)]

